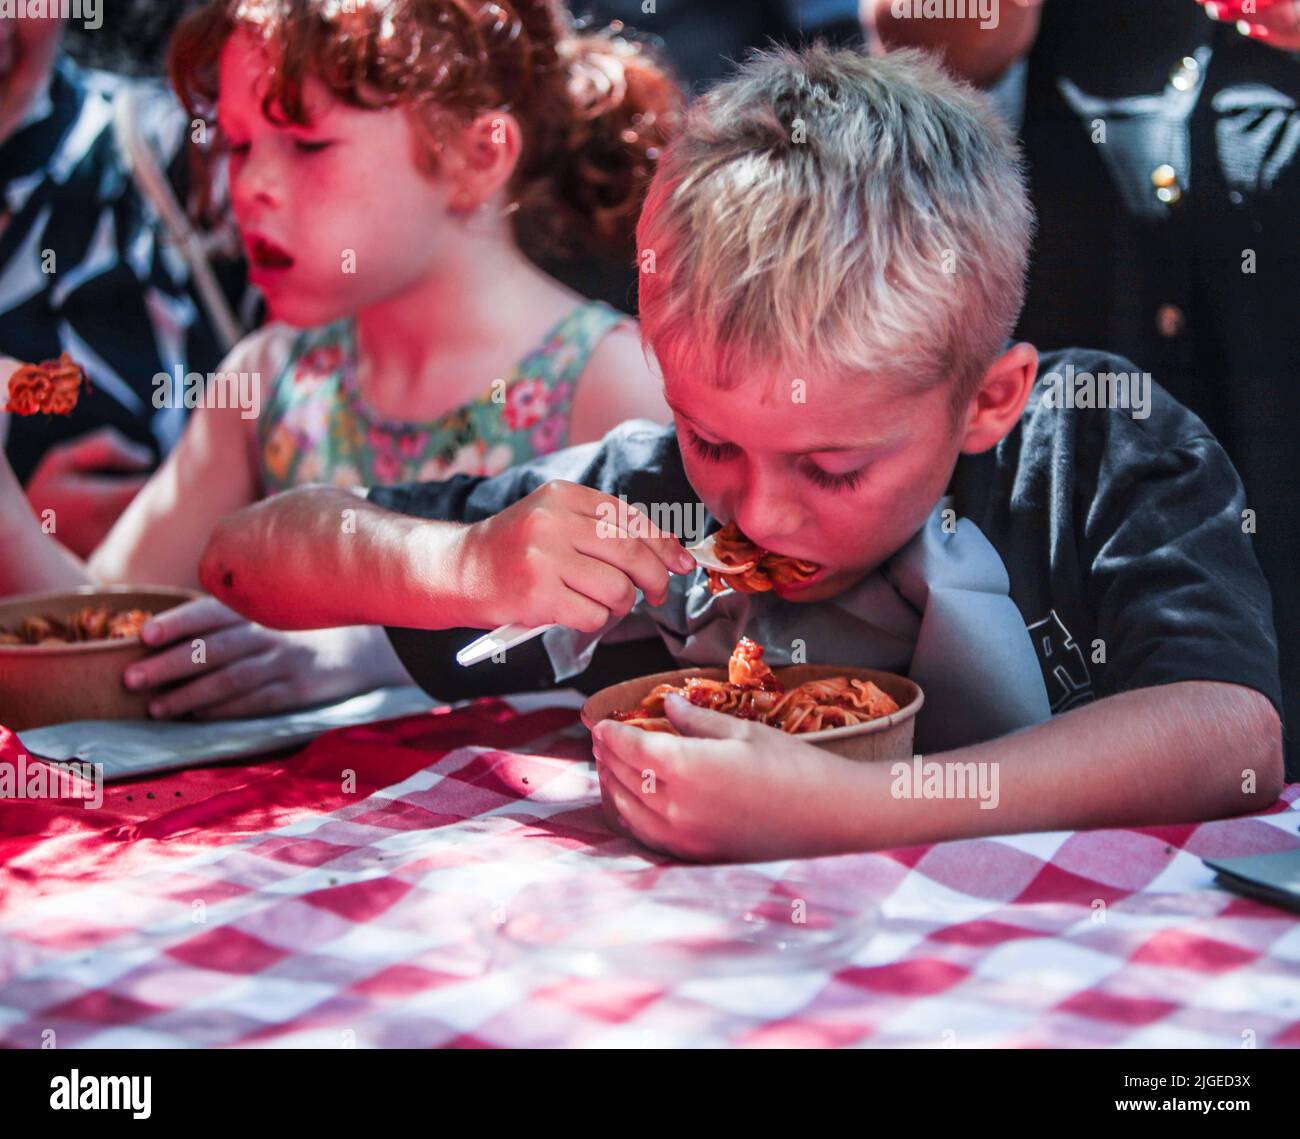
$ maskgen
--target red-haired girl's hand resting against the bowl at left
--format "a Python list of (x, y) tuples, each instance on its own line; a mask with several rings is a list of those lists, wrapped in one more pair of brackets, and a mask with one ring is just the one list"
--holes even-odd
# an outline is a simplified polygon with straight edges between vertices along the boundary
[(133, 690), (176, 685), (150, 702), (155, 719), (269, 715), (385, 683), (365, 670), (369, 632), (282, 633), (202, 597), (144, 624), (140, 638), (157, 651), (130, 664), (124, 683)]

